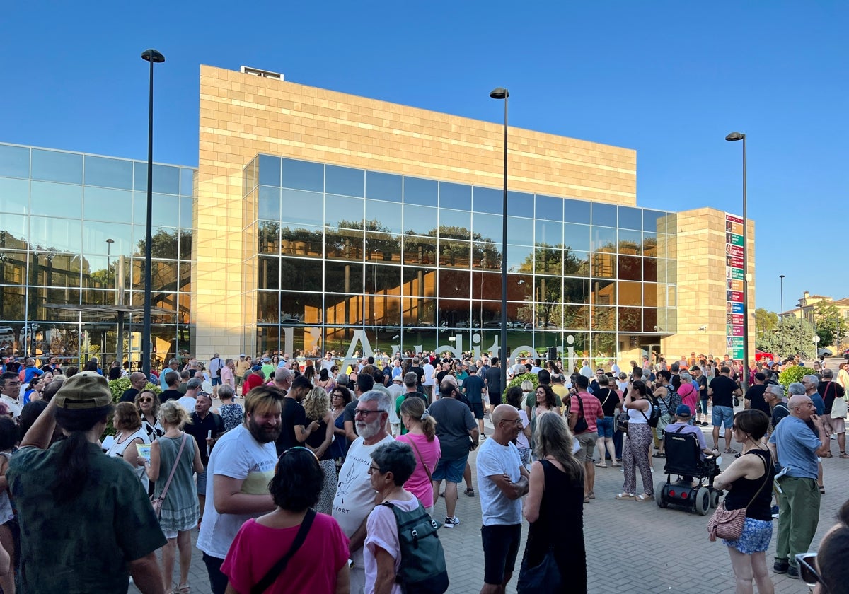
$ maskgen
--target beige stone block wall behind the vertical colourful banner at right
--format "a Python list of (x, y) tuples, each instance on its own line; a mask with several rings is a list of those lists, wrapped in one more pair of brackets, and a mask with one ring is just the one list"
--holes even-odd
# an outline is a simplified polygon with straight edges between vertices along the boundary
[[(749, 358), (755, 358), (755, 221), (746, 238), (749, 311)], [(661, 341), (677, 358), (692, 351), (722, 356), (728, 352), (725, 310), (725, 212), (711, 208), (678, 213), (678, 333)], [(707, 330), (699, 328), (706, 326)]]

